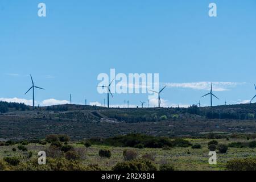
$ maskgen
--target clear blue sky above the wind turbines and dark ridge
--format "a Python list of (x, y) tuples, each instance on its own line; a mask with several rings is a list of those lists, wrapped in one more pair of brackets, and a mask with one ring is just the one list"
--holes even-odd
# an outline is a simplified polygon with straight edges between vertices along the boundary
[[(47, 17), (38, 16), (46, 3)], [(208, 5), (217, 4), (217, 17)], [(32, 74), (41, 105), (99, 104), (100, 73), (159, 73), (164, 106), (246, 102), (255, 95), (256, 2), (0, 1), (0, 99), (30, 103)], [(15, 99), (14, 99), (15, 98)], [(16, 99), (18, 98), (18, 99)], [(140, 105), (148, 94), (114, 94), (111, 105)], [(49, 99), (54, 99), (49, 101)], [(155, 105), (151, 101), (151, 106)]]

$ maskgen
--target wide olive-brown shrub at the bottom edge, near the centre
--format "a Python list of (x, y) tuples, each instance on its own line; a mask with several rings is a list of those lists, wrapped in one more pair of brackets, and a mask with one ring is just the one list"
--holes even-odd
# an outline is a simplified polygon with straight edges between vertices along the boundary
[(157, 168), (149, 160), (145, 159), (136, 159), (117, 163), (113, 167), (114, 171), (156, 171)]

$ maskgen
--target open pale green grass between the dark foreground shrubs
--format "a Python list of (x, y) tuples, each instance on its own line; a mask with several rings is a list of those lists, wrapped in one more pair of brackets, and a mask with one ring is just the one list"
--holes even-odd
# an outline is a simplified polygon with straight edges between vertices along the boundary
[[(162, 148), (133, 148), (138, 152), (138, 158), (141, 158), (142, 155), (146, 153), (154, 154), (155, 160), (153, 163), (156, 166), (160, 166), (163, 163), (174, 164), (177, 170), (225, 170), (225, 164), (228, 160), (232, 159), (243, 159), (250, 156), (256, 156), (256, 148), (230, 148), (226, 154), (217, 153), (217, 165), (208, 164), (208, 142), (210, 139), (187, 139), (192, 144), (199, 143), (201, 144), (201, 149), (192, 149), (191, 147), (174, 147), (170, 150), (163, 150)], [(246, 139), (217, 139), (219, 143), (231, 143), (231, 142), (247, 142)], [(252, 141), (252, 139), (250, 139)], [(98, 164), (102, 170), (111, 170), (117, 162), (123, 161), (123, 150), (129, 147), (110, 147), (110, 146), (96, 146), (85, 147), (84, 144), (77, 142), (69, 142), (76, 150), (79, 150), (81, 158), (79, 161), (84, 165), (89, 164)], [(14, 152), (12, 149), (16, 148)], [(22, 162), (31, 160), (27, 158), (28, 152), (32, 151), (32, 158), (37, 158), (37, 154), (41, 150), (47, 150), (49, 144), (28, 144), (26, 146), (28, 151), (20, 151), (17, 148), (17, 144), (14, 146), (0, 146), (0, 159), (3, 159), (6, 156), (18, 156), (22, 159)], [(98, 151), (101, 148), (108, 148), (112, 152), (110, 159), (101, 158), (98, 155)]]

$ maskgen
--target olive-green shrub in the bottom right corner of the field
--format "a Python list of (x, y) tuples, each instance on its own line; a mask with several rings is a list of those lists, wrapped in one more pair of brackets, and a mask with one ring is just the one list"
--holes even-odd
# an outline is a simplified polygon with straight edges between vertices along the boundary
[(256, 158), (230, 160), (226, 168), (230, 171), (256, 171)]

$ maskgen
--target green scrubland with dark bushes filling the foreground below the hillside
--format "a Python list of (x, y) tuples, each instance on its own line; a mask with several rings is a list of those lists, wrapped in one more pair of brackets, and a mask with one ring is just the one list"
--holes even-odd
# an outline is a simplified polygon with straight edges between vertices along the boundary
[[(130, 147), (127, 145), (138, 137)], [(113, 140), (119, 146), (112, 145)], [(253, 170), (256, 169), (255, 139), (179, 138), (130, 134), (93, 143), (94, 139), (70, 141), (67, 135), (48, 135), (43, 140), (1, 142), (0, 170)], [(145, 143), (157, 142), (152, 146)], [(163, 144), (164, 143), (164, 144)], [(234, 143), (246, 143), (240, 147)], [(253, 144), (247, 144), (253, 143)], [(135, 147), (135, 146), (143, 147)], [(209, 165), (210, 146), (216, 146), (217, 165)], [(146, 147), (145, 147), (146, 146)], [(15, 148), (15, 150), (14, 150)], [(47, 164), (38, 164), (38, 152), (46, 151)]]

